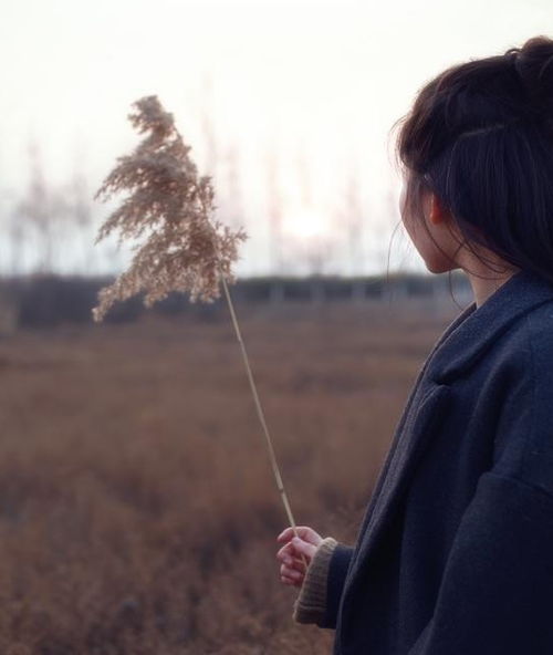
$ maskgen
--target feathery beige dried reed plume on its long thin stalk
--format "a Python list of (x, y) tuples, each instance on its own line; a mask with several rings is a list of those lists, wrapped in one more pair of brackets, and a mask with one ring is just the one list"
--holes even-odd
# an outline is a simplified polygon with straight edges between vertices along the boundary
[(298, 534), (228, 287), (228, 282), (234, 281), (231, 266), (238, 259), (238, 246), (247, 235), (211, 219), (216, 209), (211, 178), (198, 177), (188, 154), (190, 146), (184, 143), (173, 115), (163, 108), (157, 96), (143, 97), (133, 106), (136, 112), (128, 118), (147, 136), (133, 154), (117, 159), (95, 198), (108, 200), (114, 194), (128, 194), (102, 225), (96, 242), (118, 231), (119, 243), (134, 241), (134, 257), (128, 270), (101, 290), (94, 320), (102, 321), (115, 302), (139, 292), (145, 292), (147, 306), (171, 291), (188, 292), (192, 302), (212, 302), (220, 297), (219, 281), (222, 283), (276, 488), (290, 526)]

